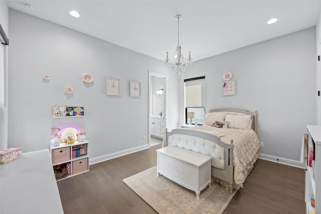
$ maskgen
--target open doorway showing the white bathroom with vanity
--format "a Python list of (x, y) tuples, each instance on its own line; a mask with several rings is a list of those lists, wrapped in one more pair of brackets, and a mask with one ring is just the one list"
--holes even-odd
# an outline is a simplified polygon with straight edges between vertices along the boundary
[(148, 71), (148, 144), (161, 143), (167, 121), (167, 75)]

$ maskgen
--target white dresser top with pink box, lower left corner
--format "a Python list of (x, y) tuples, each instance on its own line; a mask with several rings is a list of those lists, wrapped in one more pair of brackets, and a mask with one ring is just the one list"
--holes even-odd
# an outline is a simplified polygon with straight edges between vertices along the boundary
[(64, 213), (49, 150), (0, 165), (0, 213)]

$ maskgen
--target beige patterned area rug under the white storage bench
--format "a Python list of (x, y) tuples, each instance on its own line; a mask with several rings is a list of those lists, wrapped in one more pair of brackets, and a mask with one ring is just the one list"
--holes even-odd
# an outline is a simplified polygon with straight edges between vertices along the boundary
[(221, 185), (212, 182), (196, 199), (189, 190), (165, 176), (158, 176), (156, 166), (123, 179), (123, 181), (158, 213), (222, 213), (236, 190), (231, 194)]

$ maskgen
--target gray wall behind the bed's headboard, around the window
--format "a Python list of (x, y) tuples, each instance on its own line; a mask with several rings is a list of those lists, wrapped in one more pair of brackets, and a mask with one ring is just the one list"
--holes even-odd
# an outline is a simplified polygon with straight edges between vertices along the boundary
[[(215, 47), (209, 47), (215, 48)], [(206, 76), (206, 109), (258, 112), (261, 153), (299, 160), (303, 132), (316, 123), (315, 28), (195, 62), (185, 78)], [(222, 75), (231, 72), (236, 94), (221, 96)], [(180, 122), (184, 122), (180, 82)]]

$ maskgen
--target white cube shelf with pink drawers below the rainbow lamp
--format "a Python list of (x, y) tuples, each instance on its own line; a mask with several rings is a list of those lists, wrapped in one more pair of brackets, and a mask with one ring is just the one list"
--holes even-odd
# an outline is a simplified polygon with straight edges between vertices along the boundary
[[(60, 164), (69, 164), (70, 173), (67, 175), (67, 177), (89, 171), (88, 145), (89, 141), (85, 140), (84, 142), (75, 141), (75, 143), (73, 144), (60, 144), (60, 146), (50, 146), (52, 166), (54, 167)], [(77, 147), (82, 147), (83, 149), (84, 147), (86, 147), (86, 153), (80, 154), (79, 156), (73, 155), (73, 150), (75, 150), (75, 148)]]

